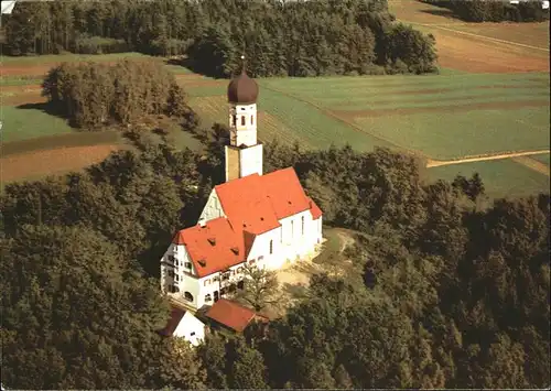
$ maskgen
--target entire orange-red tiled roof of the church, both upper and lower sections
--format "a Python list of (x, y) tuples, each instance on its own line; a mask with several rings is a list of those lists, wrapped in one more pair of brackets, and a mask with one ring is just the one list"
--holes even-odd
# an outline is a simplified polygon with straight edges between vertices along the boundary
[(292, 167), (229, 181), (215, 191), (227, 218), (181, 230), (173, 239), (185, 245), (199, 278), (244, 262), (255, 236), (280, 227), (280, 219), (304, 210), (314, 219), (322, 215)]

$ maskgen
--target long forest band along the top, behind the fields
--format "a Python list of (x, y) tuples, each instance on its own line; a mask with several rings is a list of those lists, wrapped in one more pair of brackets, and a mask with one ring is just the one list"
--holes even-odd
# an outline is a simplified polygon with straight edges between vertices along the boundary
[(387, 0), (24, 2), (3, 15), (12, 56), (137, 51), (183, 55), (228, 77), (435, 72), (434, 37), (396, 23)]

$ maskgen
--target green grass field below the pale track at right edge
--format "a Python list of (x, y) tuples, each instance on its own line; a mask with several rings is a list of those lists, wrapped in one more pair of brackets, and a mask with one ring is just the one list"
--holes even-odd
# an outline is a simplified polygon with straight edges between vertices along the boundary
[(549, 176), (509, 159), (428, 169), (428, 178), (453, 181), (456, 175), (471, 177), (475, 172), (480, 175), (486, 194), (491, 198), (549, 193)]

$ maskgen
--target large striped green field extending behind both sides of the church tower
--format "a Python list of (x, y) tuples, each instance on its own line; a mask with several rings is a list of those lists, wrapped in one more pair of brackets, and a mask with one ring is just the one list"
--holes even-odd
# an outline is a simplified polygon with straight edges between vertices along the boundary
[[(280, 122), (280, 140), (310, 148), (395, 146), (452, 160), (550, 144), (545, 74), (270, 78), (259, 84), (258, 108)], [(225, 84), (186, 88), (206, 123), (226, 123), (225, 89)], [(261, 124), (260, 137), (267, 139), (263, 130)]]

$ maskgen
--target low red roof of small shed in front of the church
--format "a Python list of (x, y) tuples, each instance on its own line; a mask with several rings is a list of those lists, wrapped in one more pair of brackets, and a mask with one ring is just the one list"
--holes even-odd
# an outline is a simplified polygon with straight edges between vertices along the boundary
[(241, 333), (255, 318), (260, 318), (263, 322), (268, 321), (267, 317), (257, 314), (255, 311), (226, 298), (220, 298), (214, 303), (205, 315), (237, 333)]

